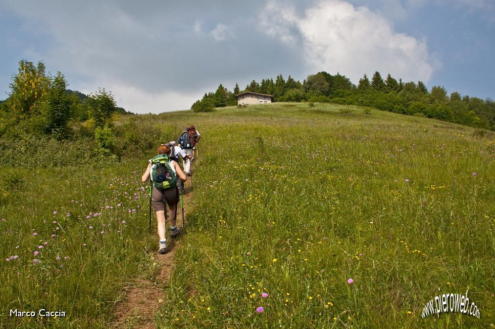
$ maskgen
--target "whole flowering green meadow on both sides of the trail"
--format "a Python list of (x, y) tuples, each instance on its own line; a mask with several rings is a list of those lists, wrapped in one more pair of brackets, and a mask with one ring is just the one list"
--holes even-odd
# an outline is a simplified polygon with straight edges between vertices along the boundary
[[(494, 133), (310, 105), (133, 117), (157, 144), (191, 124), (203, 136), (157, 327), (493, 327)], [(140, 178), (154, 149), (119, 164), (2, 167), (2, 326), (105, 328), (125, 284), (153, 276)], [(422, 319), (435, 296), (466, 290), (480, 319)], [(16, 308), (68, 317), (8, 317)]]

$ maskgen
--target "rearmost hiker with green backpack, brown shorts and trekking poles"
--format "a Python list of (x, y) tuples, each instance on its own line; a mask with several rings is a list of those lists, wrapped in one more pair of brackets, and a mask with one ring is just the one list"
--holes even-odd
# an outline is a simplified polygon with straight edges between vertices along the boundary
[(148, 162), (141, 181), (144, 183), (151, 179), (152, 190), (150, 203), (156, 212), (156, 220), (158, 222), (158, 253), (164, 254), (167, 252), (167, 239), (165, 228), (165, 202), (169, 207), (170, 214), (170, 237), (176, 238), (180, 233), (177, 227), (177, 204), (179, 203), (179, 190), (176, 181), (186, 181), (186, 175), (182, 171), (180, 165), (169, 159), (170, 147), (161, 144), (157, 149), (158, 155)]

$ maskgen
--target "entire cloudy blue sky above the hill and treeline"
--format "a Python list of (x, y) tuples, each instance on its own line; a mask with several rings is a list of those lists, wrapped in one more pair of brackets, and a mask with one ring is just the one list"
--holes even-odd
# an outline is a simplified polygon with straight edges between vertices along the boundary
[(0, 99), (20, 59), (135, 113), (190, 108), (219, 83), (391, 73), (495, 98), (494, 0), (0, 0)]

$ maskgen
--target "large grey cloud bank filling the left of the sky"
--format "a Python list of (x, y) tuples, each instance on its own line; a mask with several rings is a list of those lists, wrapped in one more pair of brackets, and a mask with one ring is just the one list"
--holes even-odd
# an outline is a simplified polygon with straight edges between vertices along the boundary
[(279, 73), (303, 76), (299, 52), (255, 28), (259, 8), (251, 3), (146, 2), (26, 0), (0, 2), (0, 10), (22, 21), (20, 37), (43, 31), (46, 46), (27, 60), (61, 71), (71, 89), (105, 87), (132, 112), (168, 96), (177, 106), (166, 109), (188, 108), (219, 83), (232, 89)]

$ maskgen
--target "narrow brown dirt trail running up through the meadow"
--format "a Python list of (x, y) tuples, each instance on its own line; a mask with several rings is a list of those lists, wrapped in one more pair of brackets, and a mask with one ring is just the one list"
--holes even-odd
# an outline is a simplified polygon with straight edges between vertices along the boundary
[[(191, 205), (193, 191), (190, 179), (186, 182), (184, 189), (186, 192), (184, 195), (184, 216), (186, 216), (186, 210), (189, 208), (189, 205)], [(179, 202), (177, 206), (179, 206), (177, 209), (177, 226), (182, 229), (181, 203)], [(153, 214), (151, 215), (153, 216)], [(156, 217), (154, 223), (154, 231), (156, 231)], [(168, 224), (167, 221), (166, 225)], [(151, 229), (153, 230), (153, 225), (151, 225)], [(167, 226), (167, 234), (170, 234), (169, 231)], [(156, 232), (154, 233), (156, 234)], [(183, 230), (181, 235), (182, 233)], [(174, 267), (175, 252), (180, 244), (181, 237), (176, 241), (169, 237), (167, 238), (168, 248), (171, 249), (169, 252), (160, 255), (157, 253), (157, 249), (154, 250), (154, 261), (157, 264), (157, 270), (153, 276), (154, 281), (148, 278), (138, 278), (125, 288), (123, 300), (115, 307), (114, 320), (111, 324), (111, 328), (156, 328), (154, 316), (159, 310), (160, 303), (167, 299), (164, 288), (168, 286), (170, 275), (172, 274), (172, 269)], [(156, 248), (158, 248), (158, 245)]]

